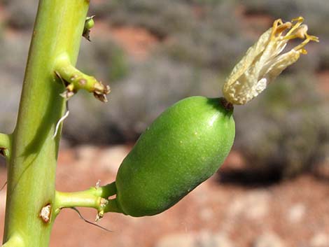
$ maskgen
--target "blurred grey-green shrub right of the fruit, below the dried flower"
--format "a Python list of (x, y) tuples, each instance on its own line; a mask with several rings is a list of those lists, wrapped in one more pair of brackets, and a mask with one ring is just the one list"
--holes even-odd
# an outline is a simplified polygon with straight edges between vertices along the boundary
[(253, 169), (294, 176), (309, 169), (329, 141), (329, 108), (314, 78), (283, 76), (236, 113), (235, 147)]

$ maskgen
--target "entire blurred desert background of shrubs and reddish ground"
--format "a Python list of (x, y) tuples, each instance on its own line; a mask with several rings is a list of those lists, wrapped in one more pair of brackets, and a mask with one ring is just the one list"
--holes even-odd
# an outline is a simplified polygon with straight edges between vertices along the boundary
[[(1, 132), (15, 127), (37, 4), (0, 0)], [(230, 156), (179, 204), (148, 218), (109, 213), (100, 224), (112, 233), (66, 210), (51, 246), (329, 246), (328, 0), (94, 0), (90, 15), (96, 26), (92, 42), (82, 41), (78, 68), (112, 92), (108, 104), (84, 92), (69, 101), (59, 190), (110, 183), (165, 108), (192, 95), (221, 96), (232, 67), (275, 19), (301, 15), (321, 42), (309, 43), (308, 55), (235, 108)], [(6, 181), (4, 165), (0, 171)]]

